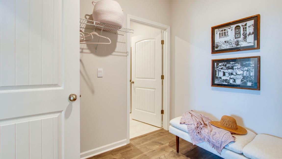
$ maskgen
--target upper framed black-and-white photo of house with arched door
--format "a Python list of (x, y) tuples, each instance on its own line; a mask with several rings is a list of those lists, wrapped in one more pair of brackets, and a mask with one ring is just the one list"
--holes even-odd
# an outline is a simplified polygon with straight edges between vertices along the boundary
[(211, 53), (259, 49), (260, 15), (211, 27)]

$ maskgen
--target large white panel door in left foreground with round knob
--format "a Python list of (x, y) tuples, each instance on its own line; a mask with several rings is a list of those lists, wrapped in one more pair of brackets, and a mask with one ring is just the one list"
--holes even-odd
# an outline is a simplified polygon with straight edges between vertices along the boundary
[(0, 158), (80, 158), (79, 1), (0, 0), (0, 19)]

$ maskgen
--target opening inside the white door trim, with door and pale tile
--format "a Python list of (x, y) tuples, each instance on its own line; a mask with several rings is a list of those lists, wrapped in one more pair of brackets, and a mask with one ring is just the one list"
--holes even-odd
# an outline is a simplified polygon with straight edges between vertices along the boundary
[(163, 31), (130, 21), (135, 31), (131, 44), (131, 108), (129, 137), (162, 128), (162, 37)]

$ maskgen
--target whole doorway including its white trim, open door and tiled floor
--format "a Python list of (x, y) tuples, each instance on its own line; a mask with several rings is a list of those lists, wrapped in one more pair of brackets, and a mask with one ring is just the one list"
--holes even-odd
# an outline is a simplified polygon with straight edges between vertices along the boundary
[[(127, 15), (127, 143), (169, 127), (169, 26)], [(166, 112), (166, 113), (164, 113)]]

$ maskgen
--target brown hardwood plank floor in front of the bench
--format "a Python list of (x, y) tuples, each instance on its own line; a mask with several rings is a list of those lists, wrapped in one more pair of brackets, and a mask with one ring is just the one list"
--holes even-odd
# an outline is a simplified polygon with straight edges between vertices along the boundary
[(192, 143), (179, 139), (179, 153), (176, 153), (175, 135), (162, 129), (146, 136), (130, 140), (130, 143), (107, 151), (88, 159), (220, 159), (221, 157), (193, 145)]

